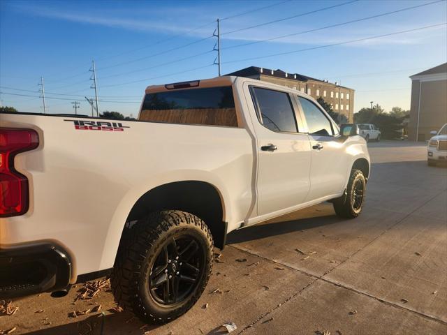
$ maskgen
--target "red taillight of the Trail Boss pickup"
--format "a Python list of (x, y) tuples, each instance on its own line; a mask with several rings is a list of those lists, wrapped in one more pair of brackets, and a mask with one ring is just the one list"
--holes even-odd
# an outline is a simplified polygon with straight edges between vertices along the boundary
[(36, 131), (0, 128), (0, 217), (17, 216), (29, 206), (28, 179), (14, 168), (14, 157), (38, 147)]

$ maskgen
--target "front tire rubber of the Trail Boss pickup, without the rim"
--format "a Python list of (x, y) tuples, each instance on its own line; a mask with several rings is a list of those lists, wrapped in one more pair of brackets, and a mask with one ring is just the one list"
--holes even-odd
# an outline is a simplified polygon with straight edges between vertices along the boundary
[[(363, 183), (363, 198), (360, 208), (356, 209), (353, 207), (353, 193), (354, 185), (356, 185), (358, 180)], [(351, 170), (351, 176), (349, 177), (348, 186), (346, 187), (346, 195), (332, 200), (335, 213), (342, 218), (356, 218), (359, 216), (360, 212), (362, 211), (363, 204), (365, 204), (365, 191), (366, 180), (362, 171), (356, 169)]]

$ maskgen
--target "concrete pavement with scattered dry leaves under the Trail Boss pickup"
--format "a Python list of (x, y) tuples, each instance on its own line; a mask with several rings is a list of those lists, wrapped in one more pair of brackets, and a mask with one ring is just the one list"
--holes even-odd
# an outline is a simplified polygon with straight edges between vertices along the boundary
[[(230, 234), (203, 297), (169, 325), (113, 309), (110, 292), (73, 304), (79, 285), (64, 298), (13, 301), (20, 309), (0, 316), (0, 329), (225, 334), (219, 325), (234, 322), (232, 334), (447, 334), (447, 169), (427, 166), (423, 144), (369, 146), (359, 218), (337, 218), (325, 203)], [(68, 317), (98, 304), (104, 316)]]

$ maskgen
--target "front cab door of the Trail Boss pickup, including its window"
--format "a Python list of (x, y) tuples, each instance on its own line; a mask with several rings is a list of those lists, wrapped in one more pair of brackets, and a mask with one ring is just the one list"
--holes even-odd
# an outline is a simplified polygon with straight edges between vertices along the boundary
[(339, 195), (344, 189), (350, 163), (344, 142), (340, 141), (337, 127), (321, 107), (302, 96), (298, 96), (298, 103), (312, 148), (310, 191), (306, 202)]

